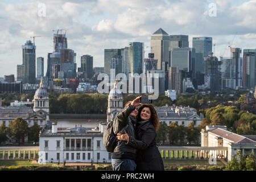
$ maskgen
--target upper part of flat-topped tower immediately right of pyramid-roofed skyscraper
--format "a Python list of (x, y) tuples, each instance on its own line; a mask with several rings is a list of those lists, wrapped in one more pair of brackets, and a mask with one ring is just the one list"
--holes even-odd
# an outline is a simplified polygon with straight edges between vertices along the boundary
[(170, 35), (169, 51), (183, 47), (188, 47), (188, 35)]

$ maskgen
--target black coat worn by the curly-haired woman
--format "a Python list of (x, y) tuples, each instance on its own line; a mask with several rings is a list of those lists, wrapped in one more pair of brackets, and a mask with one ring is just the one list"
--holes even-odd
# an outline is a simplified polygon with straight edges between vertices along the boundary
[(150, 121), (137, 122), (135, 127), (136, 139), (129, 138), (129, 146), (137, 148), (137, 171), (163, 171), (163, 159), (156, 146), (156, 131)]

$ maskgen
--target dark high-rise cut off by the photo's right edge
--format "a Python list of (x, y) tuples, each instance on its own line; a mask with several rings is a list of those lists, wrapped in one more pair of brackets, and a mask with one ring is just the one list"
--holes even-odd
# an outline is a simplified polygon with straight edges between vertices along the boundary
[(243, 49), (243, 88), (256, 85), (256, 49)]

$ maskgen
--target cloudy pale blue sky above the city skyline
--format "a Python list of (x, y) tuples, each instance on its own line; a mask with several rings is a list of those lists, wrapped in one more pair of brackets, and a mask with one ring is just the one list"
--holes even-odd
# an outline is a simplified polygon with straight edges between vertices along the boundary
[(256, 48), (255, 18), (256, 0), (1, 0), (0, 77), (16, 77), (21, 46), (31, 36), (40, 36), (36, 57), (44, 57), (46, 73), (52, 30), (67, 30), (77, 67), (85, 54), (93, 56), (93, 67), (104, 67), (104, 49), (129, 42), (144, 42), (147, 57), (150, 36), (160, 27), (169, 35), (189, 35), (189, 47), (193, 36), (212, 36), (216, 56), (229, 56), (229, 45)]

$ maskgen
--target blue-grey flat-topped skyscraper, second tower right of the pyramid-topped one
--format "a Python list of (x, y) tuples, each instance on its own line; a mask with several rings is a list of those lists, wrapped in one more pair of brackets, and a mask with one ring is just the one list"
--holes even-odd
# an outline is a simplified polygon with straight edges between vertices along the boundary
[(193, 38), (193, 48), (196, 49), (195, 72), (204, 73), (204, 57), (208, 56), (208, 52), (212, 52), (212, 38)]

